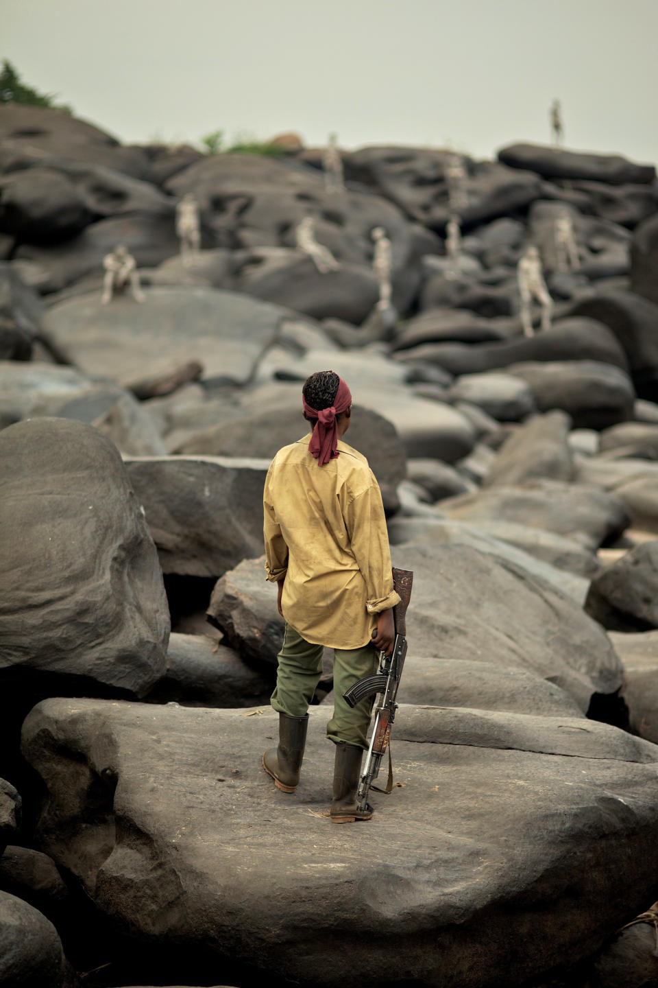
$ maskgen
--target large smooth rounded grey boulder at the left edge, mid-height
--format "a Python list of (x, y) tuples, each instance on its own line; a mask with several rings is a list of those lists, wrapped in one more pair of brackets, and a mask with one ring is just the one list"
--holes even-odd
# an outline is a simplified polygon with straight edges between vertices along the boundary
[[(0, 679), (141, 697), (162, 675), (167, 600), (110, 440), (67, 419), (0, 432)], [(16, 534), (20, 533), (20, 538)]]

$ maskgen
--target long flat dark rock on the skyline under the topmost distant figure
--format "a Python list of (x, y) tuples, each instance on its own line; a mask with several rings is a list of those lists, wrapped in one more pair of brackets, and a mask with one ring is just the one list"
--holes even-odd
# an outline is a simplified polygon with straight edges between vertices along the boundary
[(650, 184), (656, 177), (653, 165), (638, 165), (621, 154), (592, 154), (567, 151), (544, 144), (510, 144), (498, 158), (512, 168), (525, 168), (546, 179), (585, 179), (608, 185)]

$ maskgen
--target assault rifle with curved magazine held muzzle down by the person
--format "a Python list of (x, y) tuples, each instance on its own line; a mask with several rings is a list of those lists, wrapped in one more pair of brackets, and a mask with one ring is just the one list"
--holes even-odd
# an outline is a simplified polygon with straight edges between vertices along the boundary
[[(393, 585), (400, 594), (400, 604), (393, 609), (393, 619), (396, 626), (396, 638), (391, 655), (380, 652), (379, 671), (375, 676), (366, 676), (365, 679), (358, 680), (353, 686), (343, 693), (344, 700), (350, 706), (356, 706), (359, 700), (365, 697), (372, 697), (379, 694), (381, 700), (375, 706), (375, 722), (373, 724), (370, 747), (366, 756), (366, 764), (356, 792), (356, 803), (359, 810), (366, 808), (368, 801), (368, 791), (379, 775), (379, 769), (389, 747), (391, 739), (391, 727), (396, 718), (398, 703), (396, 696), (400, 679), (402, 676), (402, 666), (406, 655), (406, 609), (411, 597), (411, 583), (413, 573), (409, 569), (393, 570)], [(390, 754), (389, 754), (390, 757)], [(393, 787), (393, 774), (389, 762), (389, 782), (384, 790), (390, 792)]]

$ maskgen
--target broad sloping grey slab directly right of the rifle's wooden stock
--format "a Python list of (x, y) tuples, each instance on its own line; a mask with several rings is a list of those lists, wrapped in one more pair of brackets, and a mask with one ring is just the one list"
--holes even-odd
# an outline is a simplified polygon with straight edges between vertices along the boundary
[(415, 654), (524, 669), (583, 712), (595, 693), (621, 687), (601, 626), (543, 579), (467, 545), (397, 545), (392, 556), (413, 570), (406, 630)]

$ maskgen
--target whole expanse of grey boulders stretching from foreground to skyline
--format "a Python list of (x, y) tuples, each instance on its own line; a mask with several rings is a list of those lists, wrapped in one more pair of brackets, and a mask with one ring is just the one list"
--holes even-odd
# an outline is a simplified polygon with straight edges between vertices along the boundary
[[(448, 257), (452, 152), (342, 152), (336, 192), (290, 146), (0, 108), (0, 985), (658, 984), (655, 170), (462, 156)], [(145, 298), (102, 305), (119, 243)], [(553, 299), (531, 336), (529, 243)], [(325, 815), (329, 651), (299, 788), (260, 767), (262, 483), (327, 368), (414, 572), (397, 784), (352, 827)]]

